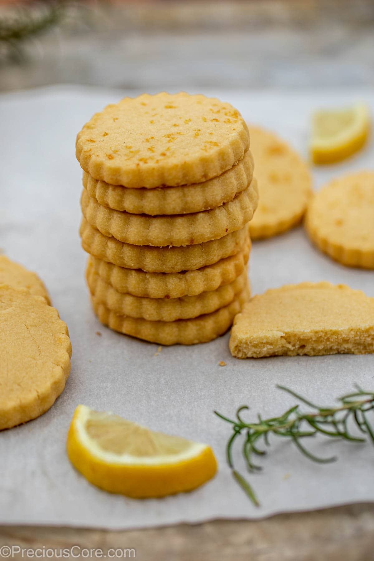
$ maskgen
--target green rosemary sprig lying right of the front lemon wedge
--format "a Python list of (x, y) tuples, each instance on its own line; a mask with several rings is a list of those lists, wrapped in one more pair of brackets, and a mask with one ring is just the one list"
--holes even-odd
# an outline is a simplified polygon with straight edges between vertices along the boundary
[(234, 468), (233, 464), (232, 448), (239, 435), (244, 434), (245, 436), (243, 457), (250, 472), (262, 470), (261, 466), (253, 463), (253, 457), (266, 454), (265, 450), (257, 448), (257, 444), (262, 439), (264, 444), (269, 446), (269, 435), (271, 434), (290, 438), (304, 456), (313, 462), (319, 463), (335, 462), (337, 458), (335, 456), (330, 458), (317, 457), (304, 447), (301, 440), (320, 433), (330, 438), (341, 438), (349, 442), (366, 442), (366, 438), (359, 438), (349, 432), (349, 421), (353, 421), (359, 431), (368, 436), (374, 444), (374, 429), (367, 419), (367, 413), (374, 409), (374, 392), (366, 392), (366, 390), (363, 390), (356, 384), (355, 392), (338, 398), (339, 407), (321, 407), (299, 396), (299, 394), (285, 386), (277, 385), (276, 387), (284, 390), (284, 392), (288, 392), (291, 396), (311, 407), (315, 412), (304, 413), (299, 410), (299, 405), (295, 405), (279, 417), (262, 419), (258, 415), (256, 422), (246, 422), (242, 419), (242, 411), (249, 409), (246, 405), (238, 408), (236, 419), (229, 419), (218, 413), (218, 411), (214, 411), (220, 419), (232, 425), (233, 434), (230, 436), (226, 446), (227, 462), (232, 469), (234, 479), (247, 493), (256, 507), (260, 506), (260, 503), (255, 491), (253, 491), (248, 481)]

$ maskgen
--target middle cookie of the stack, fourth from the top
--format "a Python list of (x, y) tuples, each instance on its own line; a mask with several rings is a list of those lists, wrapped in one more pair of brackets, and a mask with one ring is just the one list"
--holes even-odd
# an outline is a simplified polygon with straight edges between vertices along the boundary
[(219, 240), (179, 247), (136, 246), (108, 238), (82, 218), (80, 235), (87, 253), (126, 269), (149, 273), (178, 273), (200, 269), (220, 259), (235, 255), (248, 236), (248, 227), (227, 234)]

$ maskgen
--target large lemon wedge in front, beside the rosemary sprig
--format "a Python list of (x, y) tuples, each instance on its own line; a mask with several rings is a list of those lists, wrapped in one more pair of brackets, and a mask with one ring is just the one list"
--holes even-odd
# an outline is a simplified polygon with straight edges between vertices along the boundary
[(133, 498), (191, 491), (214, 476), (213, 451), (79, 405), (67, 436), (73, 466), (92, 484)]

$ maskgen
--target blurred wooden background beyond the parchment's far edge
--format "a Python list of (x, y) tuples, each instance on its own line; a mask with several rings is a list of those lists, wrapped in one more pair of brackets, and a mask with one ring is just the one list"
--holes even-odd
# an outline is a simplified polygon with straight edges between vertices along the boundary
[(374, 85), (374, 0), (0, 0), (0, 90)]

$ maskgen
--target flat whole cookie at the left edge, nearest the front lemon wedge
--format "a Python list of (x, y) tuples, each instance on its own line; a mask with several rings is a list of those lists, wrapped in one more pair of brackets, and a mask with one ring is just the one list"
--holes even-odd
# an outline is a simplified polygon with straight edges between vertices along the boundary
[(0, 429), (39, 417), (70, 374), (66, 324), (42, 296), (0, 286)]

